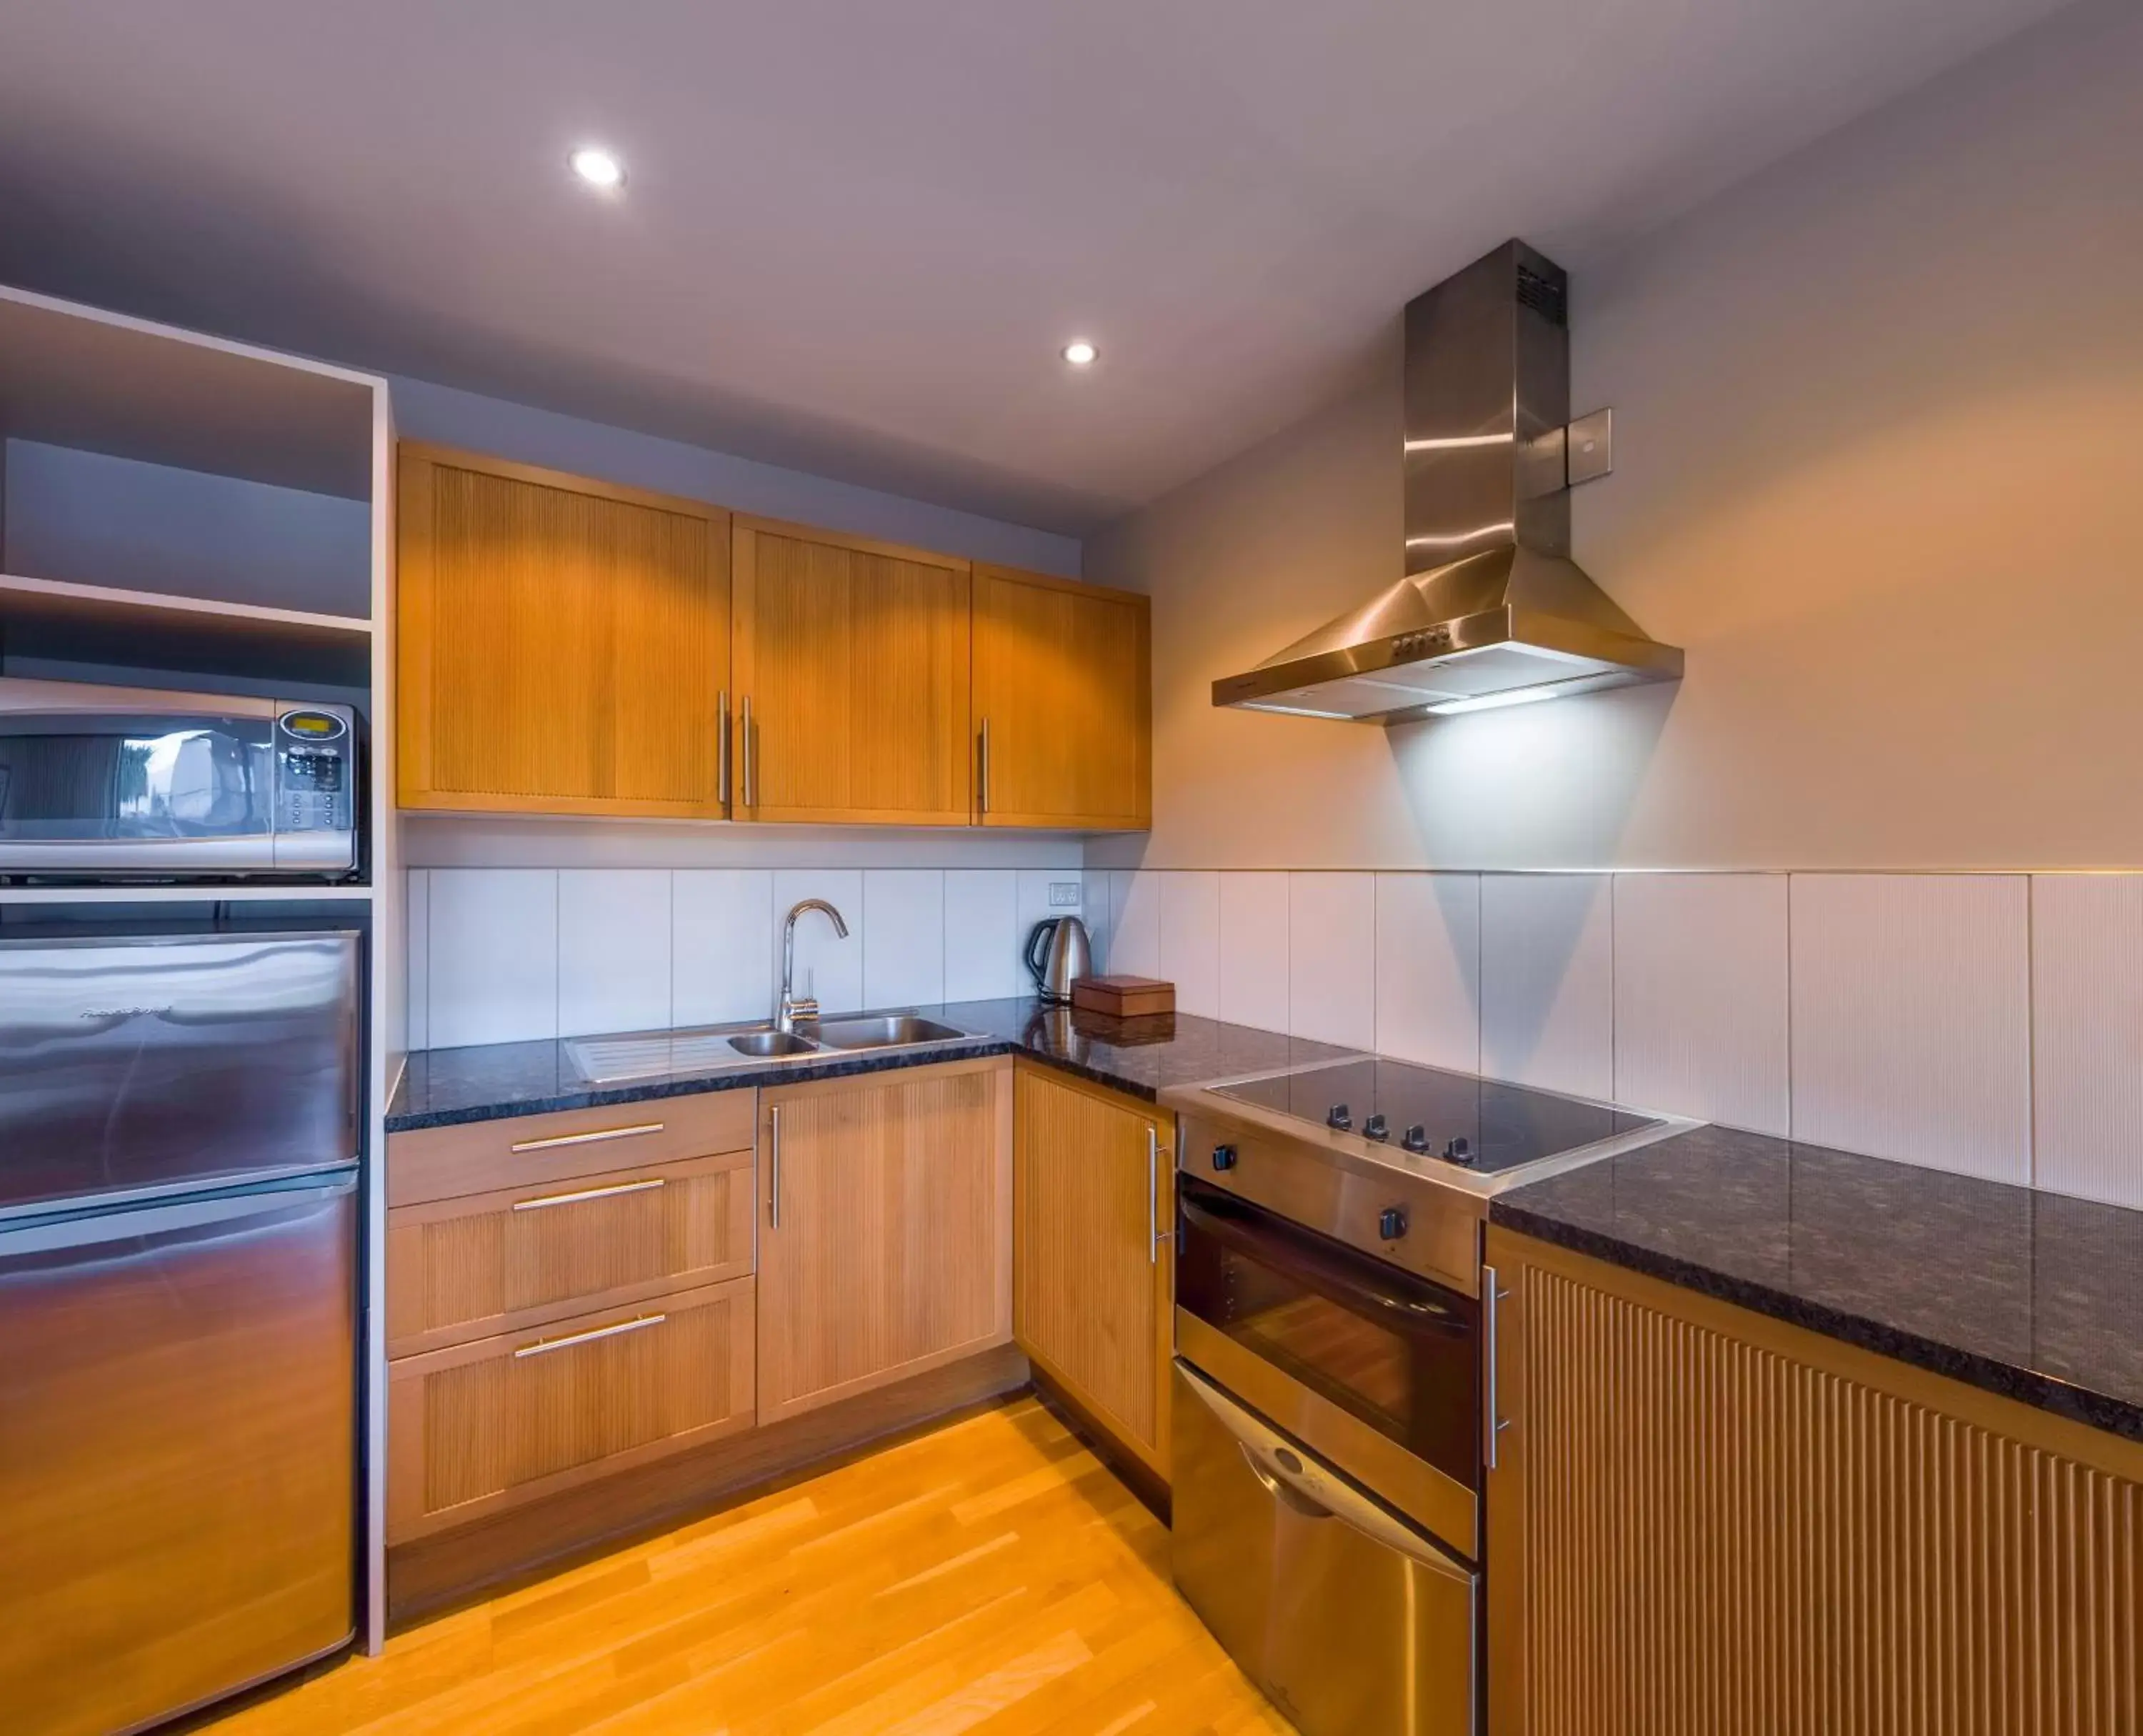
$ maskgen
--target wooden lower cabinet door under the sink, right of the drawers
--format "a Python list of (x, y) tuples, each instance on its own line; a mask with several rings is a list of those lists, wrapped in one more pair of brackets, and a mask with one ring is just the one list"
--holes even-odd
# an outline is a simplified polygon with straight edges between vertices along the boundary
[(759, 1421), (1011, 1337), (1011, 1061), (761, 1093)]

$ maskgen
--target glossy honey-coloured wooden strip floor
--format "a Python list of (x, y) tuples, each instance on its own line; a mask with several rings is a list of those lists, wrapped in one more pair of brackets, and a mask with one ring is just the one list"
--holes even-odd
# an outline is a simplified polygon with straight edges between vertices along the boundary
[(1035, 1400), (399, 1635), (216, 1736), (1226, 1736), (1288, 1723)]

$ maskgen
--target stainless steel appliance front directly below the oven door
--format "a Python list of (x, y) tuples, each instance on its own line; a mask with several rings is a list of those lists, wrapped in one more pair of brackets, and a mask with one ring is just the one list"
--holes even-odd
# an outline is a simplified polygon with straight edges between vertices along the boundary
[(1181, 1361), (1174, 1580), (1303, 1736), (1470, 1736), (1479, 1580)]

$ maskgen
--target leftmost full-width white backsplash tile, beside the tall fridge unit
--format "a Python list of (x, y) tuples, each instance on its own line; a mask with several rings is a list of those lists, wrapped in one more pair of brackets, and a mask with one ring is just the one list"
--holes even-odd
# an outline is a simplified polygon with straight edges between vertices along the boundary
[(431, 1046), (557, 1035), (557, 870), (431, 870)]

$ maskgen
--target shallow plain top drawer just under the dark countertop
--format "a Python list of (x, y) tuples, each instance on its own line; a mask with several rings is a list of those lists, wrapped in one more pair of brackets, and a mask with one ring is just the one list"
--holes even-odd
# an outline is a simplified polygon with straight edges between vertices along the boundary
[(741, 1089), (390, 1134), (388, 1204), (572, 1181), (628, 1164), (705, 1157), (709, 1151), (746, 1151), (756, 1121), (759, 1093)]

